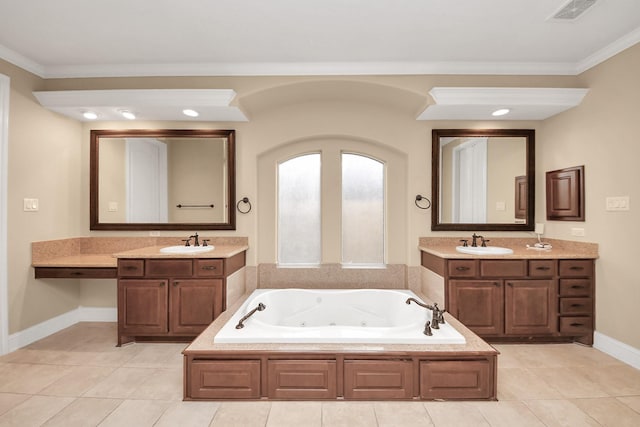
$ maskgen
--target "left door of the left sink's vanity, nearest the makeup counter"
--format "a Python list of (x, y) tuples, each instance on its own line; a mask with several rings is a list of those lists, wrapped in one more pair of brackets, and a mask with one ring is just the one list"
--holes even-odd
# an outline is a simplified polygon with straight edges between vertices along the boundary
[(168, 331), (166, 280), (120, 280), (118, 323), (121, 334), (145, 335)]

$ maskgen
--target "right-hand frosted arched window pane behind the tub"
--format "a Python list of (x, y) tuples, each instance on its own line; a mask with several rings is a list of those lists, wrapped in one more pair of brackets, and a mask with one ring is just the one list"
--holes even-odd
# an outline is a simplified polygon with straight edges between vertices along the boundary
[(384, 164), (342, 155), (342, 263), (384, 263)]

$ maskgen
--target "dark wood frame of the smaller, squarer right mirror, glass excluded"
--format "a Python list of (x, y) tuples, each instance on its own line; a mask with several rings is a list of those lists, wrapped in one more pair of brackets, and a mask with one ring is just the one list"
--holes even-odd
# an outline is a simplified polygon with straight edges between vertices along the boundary
[[(440, 138), (441, 137), (526, 138), (527, 215), (524, 224), (440, 222)], [(433, 129), (431, 131), (431, 230), (433, 231), (533, 231), (535, 228), (535, 130), (534, 129)]]

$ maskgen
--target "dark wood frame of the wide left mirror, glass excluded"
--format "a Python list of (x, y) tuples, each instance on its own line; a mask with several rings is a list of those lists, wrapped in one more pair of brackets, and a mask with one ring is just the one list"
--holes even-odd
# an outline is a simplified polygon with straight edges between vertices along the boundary
[[(99, 145), (100, 138), (191, 137), (227, 138), (227, 222), (221, 223), (105, 223), (99, 218)], [(89, 229), (90, 230), (235, 230), (236, 167), (235, 130), (219, 129), (92, 129), (89, 161)]]

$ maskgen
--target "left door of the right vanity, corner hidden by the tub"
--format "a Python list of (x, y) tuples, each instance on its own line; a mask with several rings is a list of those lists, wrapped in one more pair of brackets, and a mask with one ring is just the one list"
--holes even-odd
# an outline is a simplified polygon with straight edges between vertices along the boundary
[(448, 311), (478, 335), (503, 332), (502, 283), (498, 280), (450, 280)]

